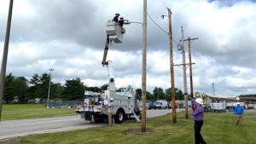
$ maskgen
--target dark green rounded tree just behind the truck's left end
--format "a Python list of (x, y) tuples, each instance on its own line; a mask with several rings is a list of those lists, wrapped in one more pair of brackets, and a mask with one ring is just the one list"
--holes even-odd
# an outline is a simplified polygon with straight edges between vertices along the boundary
[[(98, 88), (99, 89), (99, 88)], [(80, 78), (66, 80), (63, 91), (63, 99), (76, 100), (84, 98), (84, 84)]]

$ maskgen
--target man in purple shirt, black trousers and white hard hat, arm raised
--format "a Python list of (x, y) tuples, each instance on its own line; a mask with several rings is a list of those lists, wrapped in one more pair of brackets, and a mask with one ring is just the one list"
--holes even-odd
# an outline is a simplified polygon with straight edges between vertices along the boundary
[(195, 110), (193, 110), (190, 107), (191, 114), (194, 116), (195, 120), (195, 125), (194, 125), (194, 130), (195, 130), (195, 144), (206, 144), (207, 142), (204, 141), (204, 139), (201, 136), (201, 126), (203, 124), (204, 120), (204, 108), (201, 107), (203, 104), (203, 101), (201, 98), (197, 98), (196, 100), (190, 97), (190, 100), (192, 102), (192, 105), (195, 105)]

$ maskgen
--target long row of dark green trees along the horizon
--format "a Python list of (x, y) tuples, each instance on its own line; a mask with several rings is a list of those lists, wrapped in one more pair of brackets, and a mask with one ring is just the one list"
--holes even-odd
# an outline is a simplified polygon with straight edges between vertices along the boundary
[[(29, 99), (47, 99), (49, 90), (49, 74), (43, 73), (39, 76), (37, 73), (31, 78), (15, 77), (12, 73), (9, 73), (5, 77), (5, 87), (3, 94), (3, 101), (10, 103), (14, 101), (15, 97), (20, 102), (27, 101)], [(128, 86), (130, 89), (131, 86)], [(102, 89), (108, 89), (108, 84), (103, 84), (99, 87), (88, 87), (81, 82), (80, 78), (67, 79), (64, 85), (60, 83), (50, 82), (50, 99), (60, 98), (61, 100), (76, 100), (84, 98), (84, 91), (89, 90), (93, 92), (101, 92)], [(121, 91), (122, 88), (117, 89)], [(136, 89), (137, 95), (142, 95), (142, 89)], [(176, 100), (183, 100), (183, 92), (181, 89), (175, 88)], [(172, 89), (164, 89), (155, 87), (153, 93), (147, 91), (147, 100), (156, 101), (163, 100), (172, 101)]]

